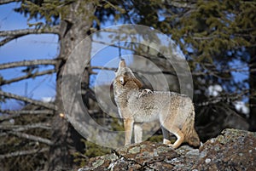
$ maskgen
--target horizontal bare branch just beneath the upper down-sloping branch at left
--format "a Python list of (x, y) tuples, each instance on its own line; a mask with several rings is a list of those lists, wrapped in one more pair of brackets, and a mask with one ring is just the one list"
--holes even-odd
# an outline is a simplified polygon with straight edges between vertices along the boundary
[(6, 121), (15, 117), (20, 117), (20, 115), (53, 115), (54, 111), (53, 110), (37, 110), (37, 111), (9, 111), (9, 110), (0, 110), (0, 113), (2, 114), (11, 114), (8, 116), (1, 116), (0, 117), (0, 122)]

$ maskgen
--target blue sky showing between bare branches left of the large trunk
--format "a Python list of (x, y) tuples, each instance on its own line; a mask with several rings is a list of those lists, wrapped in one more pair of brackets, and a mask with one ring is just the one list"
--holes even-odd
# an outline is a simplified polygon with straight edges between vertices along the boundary
[[(28, 28), (26, 18), (12, 10), (17, 6), (19, 6), (18, 3), (0, 6), (0, 31)], [(0, 47), (0, 64), (20, 60), (54, 59), (58, 55), (58, 49), (58, 37), (53, 34), (20, 37)], [(44, 67), (44, 70), (51, 68), (53, 67)], [(4, 79), (20, 77), (25, 75), (25, 73), (20, 72), (23, 69), (25, 67), (0, 70), (0, 75)], [(6, 92), (42, 100), (42, 97), (55, 95), (55, 75), (27, 79), (4, 85), (1, 88)], [(15, 100), (9, 100), (8, 103), (1, 105), (3, 109), (18, 109), (20, 107), (20, 103)]]

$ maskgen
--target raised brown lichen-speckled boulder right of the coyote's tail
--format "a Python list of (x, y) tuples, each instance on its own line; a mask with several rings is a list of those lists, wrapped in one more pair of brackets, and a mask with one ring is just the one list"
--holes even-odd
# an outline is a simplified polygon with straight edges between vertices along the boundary
[[(256, 133), (224, 129), (200, 147), (198, 170), (255, 170)], [(203, 154), (203, 155), (202, 155)]]

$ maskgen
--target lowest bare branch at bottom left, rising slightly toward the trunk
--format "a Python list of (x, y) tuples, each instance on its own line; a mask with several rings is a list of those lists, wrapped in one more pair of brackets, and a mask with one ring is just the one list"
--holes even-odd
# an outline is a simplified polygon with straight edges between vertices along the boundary
[(26, 155), (31, 155), (31, 154), (35, 154), (35, 153), (45, 152), (45, 151), (49, 151), (49, 148), (44, 147), (44, 148), (32, 149), (32, 150), (28, 150), (28, 151), (15, 151), (15, 152), (10, 152), (8, 154), (0, 155), (0, 159), (9, 158), (9, 157), (26, 156)]

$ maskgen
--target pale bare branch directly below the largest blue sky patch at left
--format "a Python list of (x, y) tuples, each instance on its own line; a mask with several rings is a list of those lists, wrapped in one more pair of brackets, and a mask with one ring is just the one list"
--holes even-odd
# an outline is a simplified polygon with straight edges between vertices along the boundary
[(0, 70), (19, 66), (56, 65), (57, 60), (23, 60), (19, 62), (9, 62), (0, 65)]

